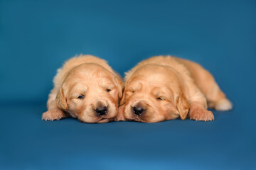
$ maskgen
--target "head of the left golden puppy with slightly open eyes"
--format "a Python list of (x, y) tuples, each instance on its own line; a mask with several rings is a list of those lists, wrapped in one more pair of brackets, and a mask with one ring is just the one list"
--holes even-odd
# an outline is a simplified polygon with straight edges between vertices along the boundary
[(58, 107), (85, 123), (106, 123), (118, 113), (122, 81), (99, 64), (72, 69), (56, 96)]

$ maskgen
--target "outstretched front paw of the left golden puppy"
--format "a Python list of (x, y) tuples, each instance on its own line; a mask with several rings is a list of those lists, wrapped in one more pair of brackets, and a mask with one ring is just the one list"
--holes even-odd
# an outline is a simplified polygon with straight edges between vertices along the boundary
[(59, 108), (52, 108), (42, 115), (42, 120), (60, 120), (61, 118), (65, 118), (65, 113), (61, 111)]

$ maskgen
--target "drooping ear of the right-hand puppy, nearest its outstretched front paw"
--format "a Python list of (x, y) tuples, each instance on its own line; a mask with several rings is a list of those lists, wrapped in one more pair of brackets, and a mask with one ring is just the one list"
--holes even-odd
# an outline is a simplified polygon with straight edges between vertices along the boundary
[(185, 120), (189, 109), (189, 103), (185, 96), (181, 95), (176, 98), (176, 107), (181, 120)]

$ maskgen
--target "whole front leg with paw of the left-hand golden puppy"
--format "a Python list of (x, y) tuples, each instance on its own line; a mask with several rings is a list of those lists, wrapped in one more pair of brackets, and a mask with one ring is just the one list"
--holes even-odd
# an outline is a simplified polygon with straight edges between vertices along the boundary
[(55, 89), (50, 91), (47, 101), (48, 111), (43, 113), (42, 120), (60, 120), (61, 118), (66, 118), (69, 116), (68, 113), (63, 112), (62, 110), (60, 110), (60, 108), (58, 108), (55, 101), (56, 95), (57, 91)]

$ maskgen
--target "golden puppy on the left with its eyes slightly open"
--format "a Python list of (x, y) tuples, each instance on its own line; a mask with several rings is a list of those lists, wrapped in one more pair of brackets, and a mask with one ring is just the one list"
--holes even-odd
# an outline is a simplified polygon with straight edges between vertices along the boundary
[(118, 113), (122, 79), (105, 60), (73, 57), (58, 69), (53, 83), (43, 120), (72, 116), (84, 123), (106, 123)]

